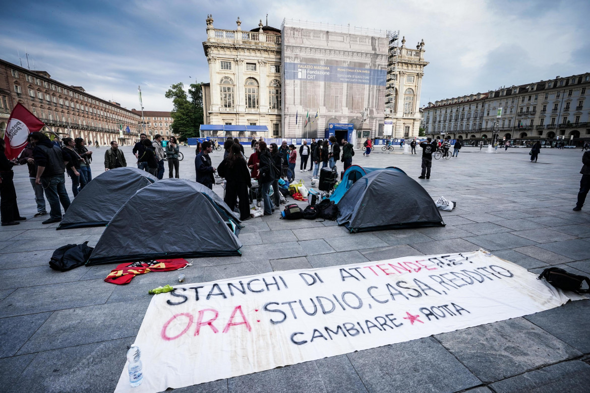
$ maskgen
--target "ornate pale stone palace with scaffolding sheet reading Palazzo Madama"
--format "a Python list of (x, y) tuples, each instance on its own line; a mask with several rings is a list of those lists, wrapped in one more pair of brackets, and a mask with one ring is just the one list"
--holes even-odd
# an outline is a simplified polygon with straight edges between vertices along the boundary
[(332, 123), (353, 124), (358, 137), (418, 136), (424, 41), (411, 49), (396, 32), (287, 19), (250, 31), (240, 18), (235, 30), (213, 22), (208, 15), (205, 124), (267, 126), (269, 137), (322, 138)]

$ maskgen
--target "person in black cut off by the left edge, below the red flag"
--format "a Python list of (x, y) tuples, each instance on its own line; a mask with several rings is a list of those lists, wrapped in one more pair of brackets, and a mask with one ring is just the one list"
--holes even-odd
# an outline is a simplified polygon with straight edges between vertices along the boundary
[(14, 172), (12, 167), (15, 166), (18, 161), (8, 160), (4, 154), (6, 144), (4, 139), (0, 140), (0, 217), (2, 220), (2, 226), (7, 225), (18, 225), (19, 221), (26, 220), (25, 217), (21, 217), (21, 213), (18, 212), (17, 206), (17, 191), (14, 189)]

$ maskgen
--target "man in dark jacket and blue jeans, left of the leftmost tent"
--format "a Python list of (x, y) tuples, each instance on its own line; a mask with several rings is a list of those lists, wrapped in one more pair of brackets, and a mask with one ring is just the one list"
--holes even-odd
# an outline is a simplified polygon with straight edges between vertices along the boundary
[(70, 197), (65, 191), (65, 163), (61, 149), (54, 146), (47, 136), (43, 133), (32, 133), (31, 141), (35, 144), (33, 149), (33, 158), (37, 164), (37, 175), (35, 183), (42, 184), (45, 190), (45, 196), (49, 201), (51, 210), (49, 219), (44, 224), (51, 224), (61, 221), (61, 206), (64, 213), (70, 207)]

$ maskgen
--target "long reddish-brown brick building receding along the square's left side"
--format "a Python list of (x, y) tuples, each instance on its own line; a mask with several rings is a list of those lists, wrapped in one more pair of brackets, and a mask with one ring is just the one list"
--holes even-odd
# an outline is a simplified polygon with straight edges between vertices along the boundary
[(94, 97), (81, 86), (53, 80), (46, 71), (30, 71), (0, 60), (0, 130), (6, 130), (17, 103), (61, 137), (79, 136), (101, 145), (112, 140), (130, 144), (137, 138), (140, 115), (118, 103)]

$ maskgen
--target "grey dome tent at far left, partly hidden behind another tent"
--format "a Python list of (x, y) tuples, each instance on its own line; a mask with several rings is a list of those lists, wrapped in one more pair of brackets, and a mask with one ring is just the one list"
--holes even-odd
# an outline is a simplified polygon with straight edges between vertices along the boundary
[(104, 226), (137, 190), (158, 178), (133, 167), (99, 174), (74, 198), (57, 229)]

